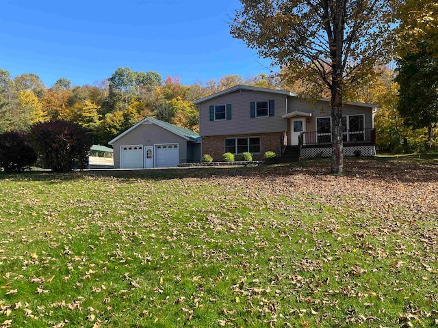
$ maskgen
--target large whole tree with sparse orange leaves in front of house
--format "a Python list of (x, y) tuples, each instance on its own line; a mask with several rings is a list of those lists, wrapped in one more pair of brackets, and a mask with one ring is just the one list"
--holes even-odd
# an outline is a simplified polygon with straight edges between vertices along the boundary
[(261, 57), (331, 93), (332, 173), (344, 167), (342, 102), (388, 59), (390, 0), (240, 0), (231, 25)]

